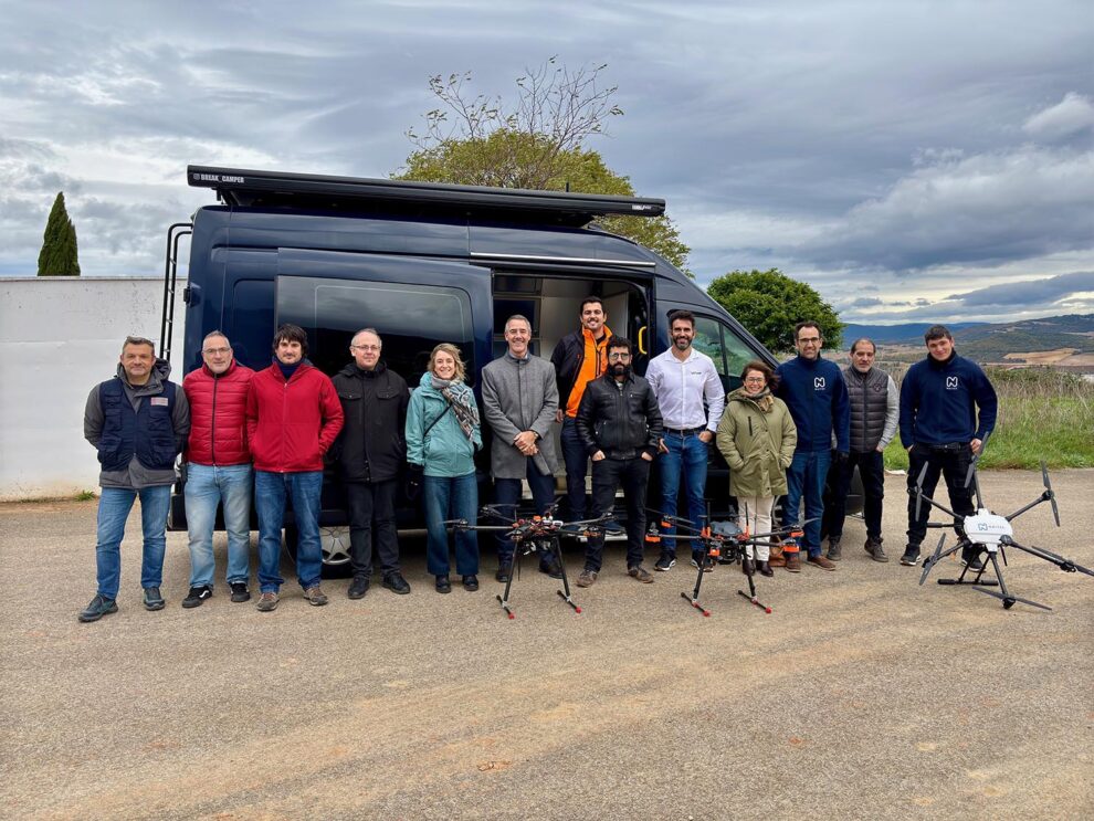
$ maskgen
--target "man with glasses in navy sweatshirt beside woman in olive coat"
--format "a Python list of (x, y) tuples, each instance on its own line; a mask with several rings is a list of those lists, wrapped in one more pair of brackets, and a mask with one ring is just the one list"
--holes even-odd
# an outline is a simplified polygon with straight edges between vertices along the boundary
[[(824, 482), (832, 463), (832, 438), (835, 438), (835, 457), (846, 462), (851, 450), (851, 406), (843, 372), (834, 362), (821, 359), (824, 345), (820, 326), (814, 322), (798, 323), (793, 329), (793, 344), (798, 356), (782, 362), (776, 373), (779, 386), (776, 396), (790, 409), (798, 428), (798, 446), (793, 462), (787, 471), (787, 502), (783, 511), (786, 523), (798, 522), (801, 499), (806, 499), (806, 519), (802, 545), (810, 565), (834, 570), (835, 562), (821, 555), (821, 519), (824, 516)], [(786, 567), (790, 572), (801, 570), (797, 549), (787, 548)]]

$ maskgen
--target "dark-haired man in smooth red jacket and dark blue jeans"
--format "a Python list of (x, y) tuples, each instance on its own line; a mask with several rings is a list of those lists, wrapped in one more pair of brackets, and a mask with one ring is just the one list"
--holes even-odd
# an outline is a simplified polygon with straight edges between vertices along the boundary
[(330, 378), (308, 362), (307, 335), (282, 325), (273, 339), (274, 361), (251, 380), (246, 431), (254, 456), (254, 506), (259, 514), (259, 610), (277, 607), (284, 579), (281, 526), (285, 499), (296, 517), (296, 577), (312, 604), (327, 603), (319, 587), (319, 496), (323, 454), (341, 430), (343, 413)]

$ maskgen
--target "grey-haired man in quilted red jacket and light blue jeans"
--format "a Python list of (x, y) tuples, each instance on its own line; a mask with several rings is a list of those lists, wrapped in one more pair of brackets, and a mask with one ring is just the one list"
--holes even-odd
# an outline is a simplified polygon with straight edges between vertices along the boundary
[(183, 452), (186, 524), (190, 535), (190, 592), (182, 600), (185, 608), (199, 607), (212, 596), (212, 534), (218, 506), (224, 508), (232, 601), (251, 598), (246, 582), (253, 480), (246, 443), (246, 393), (254, 371), (235, 361), (228, 337), (219, 330), (208, 334), (201, 343), (201, 359), (204, 365), (182, 380), (191, 425)]

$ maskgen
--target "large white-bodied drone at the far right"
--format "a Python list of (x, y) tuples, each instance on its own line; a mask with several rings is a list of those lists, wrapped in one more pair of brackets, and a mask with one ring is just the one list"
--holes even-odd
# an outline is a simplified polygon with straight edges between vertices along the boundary
[[(932, 506), (937, 507), (939, 511), (948, 516), (954, 517), (954, 527), (957, 528), (958, 538), (957, 544), (949, 548), (948, 550), (943, 550), (943, 546), (946, 543), (946, 535), (943, 534), (942, 538), (938, 539), (938, 546), (935, 548), (934, 554), (923, 562), (923, 575), (919, 577), (919, 585), (927, 580), (927, 575), (942, 559), (950, 556), (958, 550), (971, 547), (974, 552), (968, 557), (968, 562), (961, 569), (960, 576), (956, 579), (938, 579), (939, 585), (971, 585), (974, 590), (981, 593), (987, 593), (1002, 601), (1004, 610), (1010, 610), (1014, 607), (1016, 602), (1022, 602), (1023, 604), (1030, 604), (1031, 607), (1040, 608), (1042, 610), (1052, 610), (1046, 604), (1040, 604), (1030, 599), (1023, 599), (1021, 597), (1014, 596), (1007, 589), (1007, 582), (1003, 580), (1002, 568), (999, 566), (998, 556), (1002, 556), (1003, 567), (1007, 566), (1007, 550), (1008, 547), (1017, 548), (1018, 550), (1023, 550), (1031, 556), (1035, 556), (1039, 559), (1044, 559), (1045, 561), (1051, 561), (1053, 565), (1059, 567), (1064, 572), (1081, 572), (1087, 576), (1094, 576), (1094, 570), (1083, 567), (1082, 565), (1076, 565), (1071, 559), (1065, 559), (1063, 556), (1059, 556), (1051, 550), (1045, 550), (1043, 547), (1034, 547), (1028, 545), (1021, 545), (1014, 540), (1014, 529), (1011, 526), (1011, 522), (1021, 516), (1027, 511), (1037, 507), (1038, 505), (1048, 502), (1052, 505), (1052, 517), (1055, 519), (1056, 527), (1060, 527), (1060, 508), (1056, 506), (1056, 495), (1052, 490), (1052, 483), (1049, 481), (1049, 470), (1044, 462), (1041, 462), (1041, 480), (1044, 484), (1044, 491), (1028, 505), (1018, 508), (1014, 513), (1009, 516), (1000, 516), (999, 514), (992, 513), (983, 503), (983, 497), (980, 494), (980, 481), (977, 476), (977, 463), (980, 461), (980, 456), (983, 454), (985, 448), (987, 448), (988, 438), (983, 438), (983, 444), (980, 448), (979, 453), (972, 456), (969, 463), (968, 474), (965, 477), (965, 487), (972, 487), (974, 494), (976, 496), (976, 513), (962, 516), (960, 514), (954, 513), (947, 507), (935, 502), (933, 498), (925, 496), (923, 493), (923, 482), (927, 474), (927, 465), (923, 466), (919, 472), (918, 481), (916, 482), (916, 487), (914, 495), (916, 497), (916, 515), (918, 516), (921, 506), (924, 502), (929, 503)], [(912, 493), (912, 491), (909, 491)], [(927, 523), (927, 527), (948, 527), (946, 524), (933, 524)], [(988, 562), (981, 562), (979, 567), (977, 565), (977, 559), (981, 554), (986, 554), (988, 561), (991, 562), (991, 567), (995, 571), (995, 579), (985, 579), (983, 573), (988, 569)], [(976, 573), (975, 578), (967, 579), (969, 571)], [(998, 587), (999, 590), (990, 590), (990, 587)]]

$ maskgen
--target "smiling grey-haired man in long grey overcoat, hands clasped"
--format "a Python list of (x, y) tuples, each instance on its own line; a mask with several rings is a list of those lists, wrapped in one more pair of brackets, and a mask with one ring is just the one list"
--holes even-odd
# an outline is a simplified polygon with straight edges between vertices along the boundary
[[(483, 368), (483, 415), (494, 432), (490, 469), (494, 501), (505, 515), (516, 517), (520, 480), (527, 478), (536, 512), (546, 513), (555, 501), (555, 442), (550, 425), (558, 410), (555, 366), (533, 356), (532, 323), (519, 314), (505, 320), (505, 354)], [(513, 575), (514, 545), (497, 537), (498, 581)], [(550, 556), (541, 556), (539, 570), (561, 578)]]

